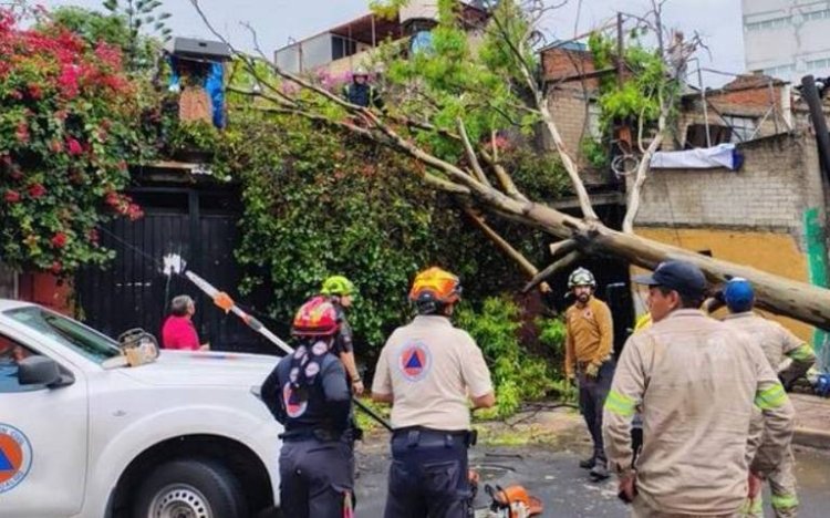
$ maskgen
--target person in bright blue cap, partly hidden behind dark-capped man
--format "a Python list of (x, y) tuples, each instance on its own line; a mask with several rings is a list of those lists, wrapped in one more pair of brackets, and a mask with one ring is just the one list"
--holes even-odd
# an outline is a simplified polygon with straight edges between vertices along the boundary
[[(755, 307), (755, 291), (746, 279), (734, 278), (724, 289), (723, 299), (729, 314), (724, 322), (744, 331), (760, 345), (769, 366), (778, 373), (784, 385), (803, 376), (816, 363), (812, 348), (781, 324), (767, 320), (753, 311)], [(786, 362), (790, 359), (790, 362)], [(760, 416), (758, 416), (760, 418)], [(757, 428), (762, 429), (760, 426)], [(798, 514), (798, 495), (795, 475), (796, 459), (792, 449), (788, 448), (781, 464), (769, 474), (769, 486), (772, 494), (772, 510), (778, 518), (790, 518)], [(764, 516), (760, 498), (750, 501), (747, 514)], [(753, 504), (757, 504), (753, 506)], [(755, 507), (755, 508), (754, 508)]]

